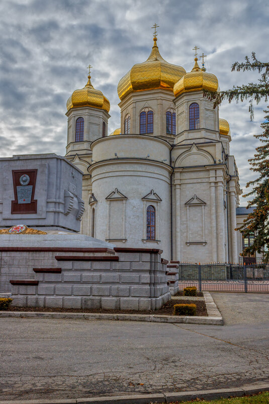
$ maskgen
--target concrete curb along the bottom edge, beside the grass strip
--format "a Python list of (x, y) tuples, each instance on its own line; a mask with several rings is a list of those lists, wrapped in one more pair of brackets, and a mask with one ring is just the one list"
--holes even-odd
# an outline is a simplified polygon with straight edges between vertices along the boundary
[(160, 394), (135, 394), (120, 396), (103, 396), (89, 398), (71, 398), (71, 399), (38, 399), (38, 400), (9, 400), (0, 401), (0, 404), (149, 404), (149, 403), (170, 403), (173, 401), (189, 401), (196, 398), (215, 399), (228, 397), (242, 397), (243, 395), (255, 394), (260, 391), (269, 391), (269, 384), (258, 382), (247, 384), (235, 388), (221, 388), (215, 390), (182, 391), (176, 393)]

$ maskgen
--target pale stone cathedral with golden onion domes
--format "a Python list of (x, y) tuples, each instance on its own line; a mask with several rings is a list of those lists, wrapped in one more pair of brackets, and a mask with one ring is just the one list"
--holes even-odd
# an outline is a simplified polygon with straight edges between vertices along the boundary
[(197, 53), (191, 72), (164, 60), (155, 33), (147, 60), (118, 84), (114, 132), (108, 134), (109, 100), (90, 75), (72, 93), (65, 157), (83, 172), (82, 234), (161, 249), (170, 260), (238, 262), (241, 190), (229, 124), (203, 97), (218, 88)]

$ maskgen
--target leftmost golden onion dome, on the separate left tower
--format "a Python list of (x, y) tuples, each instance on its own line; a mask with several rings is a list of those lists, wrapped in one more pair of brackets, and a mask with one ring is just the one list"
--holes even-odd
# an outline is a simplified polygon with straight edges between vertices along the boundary
[(84, 88), (75, 90), (66, 103), (67, 111), (71, 108), (93, 107), (105, 109), (109, 112), (110, 103), (102, 91), (96, 90), (91, 83), (91, 76), (88, 76), (88, 82)]

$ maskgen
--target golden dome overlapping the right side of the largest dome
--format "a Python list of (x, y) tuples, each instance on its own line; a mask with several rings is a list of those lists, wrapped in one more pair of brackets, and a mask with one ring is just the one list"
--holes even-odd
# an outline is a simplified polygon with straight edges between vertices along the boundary
[(175, 97), (188, 91), (218, 90), (218, 79), (216, 76), (211, 73), (203, 72), (197, 63), (197, 57), (194, 60), (195, 64), (193, 70), (175, 83), (173, 88)]

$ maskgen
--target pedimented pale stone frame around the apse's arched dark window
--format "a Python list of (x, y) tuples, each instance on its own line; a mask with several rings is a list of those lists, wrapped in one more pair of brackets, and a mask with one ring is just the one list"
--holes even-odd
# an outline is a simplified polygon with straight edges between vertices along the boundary
[[(159, 204), (162, 199), (159, 195), (154, 192), (153, 189), (145, 196), (141, 198), (143, 200), (143, 238), (141, 239), (143, 243), (157, 243), (160, 244), (161, 240), (159, 240)], [(152, 205), (155, 209), (155, 240), (147, 239), (147, 207)]]

